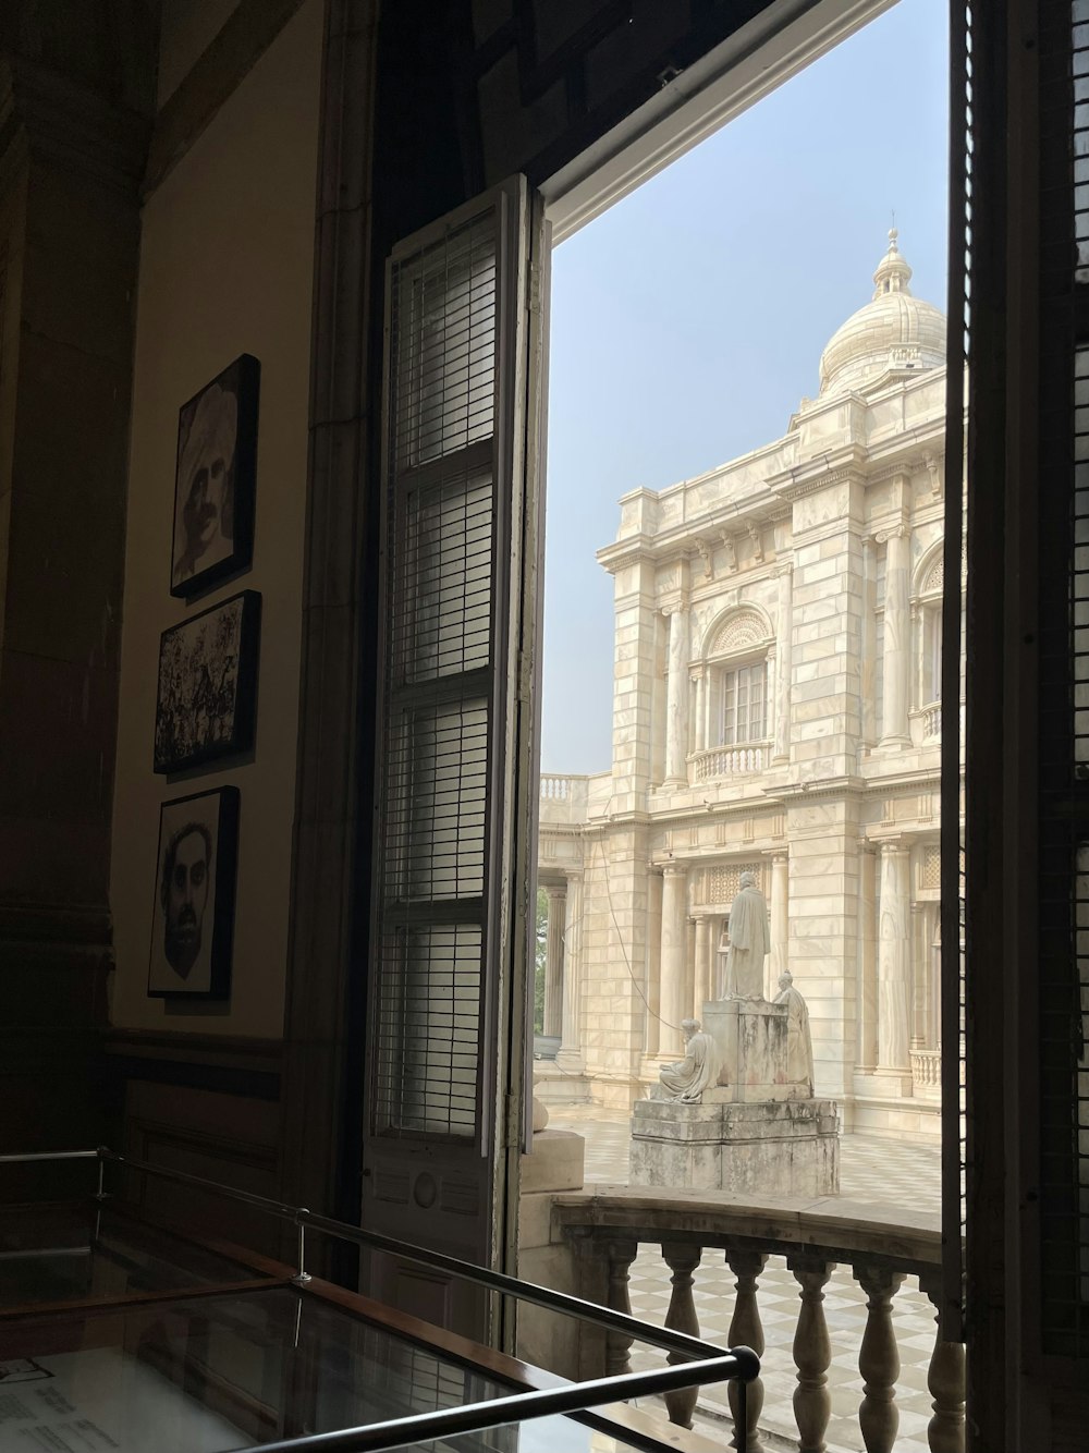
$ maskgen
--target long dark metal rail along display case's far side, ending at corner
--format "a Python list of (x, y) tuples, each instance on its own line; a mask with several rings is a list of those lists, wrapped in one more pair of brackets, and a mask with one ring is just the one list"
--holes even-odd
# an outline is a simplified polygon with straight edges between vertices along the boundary
[[(202, 1175), (190, 1175), (187, 1171), (176, 1171), (163, 1165), (151, 1165), (147, 1161), (138, 1161), (128, 1155), (121, 1155), (118, 1151), (112, 1151), (106, 1145), (100, 1145), (94, 1151), (46, 1151), (39, 1154), (0, 1155), (0, 1165), (41, 1159), (87, 1159), (91, 1157), (97, 1157), (99, 1159), (100, 1199), (103, 1197), (102, 1167), (109, 1161), (115, 1165), (123, 1165), (128, 1170), (138, 1171), (144, 1175), (157, 1175), (160, 1180), (173, 1181), (174, 1184), (182, 1186), (193, 1186), (197, 1190), (212, 1191), (213, 1194), (224, 1196), (228, 1200), (237, 1200), (247, 1206), (256, 1206), (260, 1210), (267, 1212), (270, 1216), (277, 1216), (280, 1221), (290, 1221), (299, 1228), (299, 1266), (293, 1277), (293, 1280), (299, 1284), (309, 1282), (309, 1274), (305, 1267), (303, 1239), (305, 1229), (309, 1226), (314, 1231), (337, 1237), (341, 1241), (351, 1241), (356, 1245), (402, 1257), (405, 1261), (415, 1261), (420, 1266), (431, 1267), (436, 1271), (447, 1271), (450, 1276), (460, 1276), (466, 1282), (475, 1282), (478, 1286), (484, 1286), (491, 1292), (514, 1296), (534, 1306), (542, 1306), (546, 1311), (562, 1312), (568, 1316), (576, 1318), (578, 1321), (603, 1327), (607, 1331), (623, 1332), (636, 1341), (648, 1343), (650, 1347), (659, 1347), (665, 1351), (677, 1353), (681, 1357), (693, 1359), (690, 1366), (694, 1366), (696, 1360), (723, 1356), (723, 1348), (716, 1347), (713, 1343), (704, 1343), (698, 1337), (690, 1337), (687, 1332), (675, 1332), (668, 1327), (655, 1327), (650, 1322), (643, 1322), (637, 1316), (629, 1315), (627, 1312), (616, 1312), (613, 1308), (598, 1306), (595, 1302), (587, 1302), (579, 1296), (572, 1296), (569, 1292), (555, 1292), (552, 1287), (537, 1286), (534, 1282), (521, 1282), (502, 1271), (478, 1267), (470, 1261), (462, 1261), (457, 1257), (446, 1255), (441, 1251), (430, 1251), (425, 1247), (418, 1247), (408, 1241), (398, 1241), (393, 1237), (385, 1237), (376, 1231), (364, 1231), (363, 1228), (351, 1226), (344, 1221), (334, 1221), (331, 1216), (318, 1216), (305, 1206), (287, 1206), (283, 1202), (270, 1200), (267, 1196), (258, 1196), (256, 1191), (235, 1190), (232, 1186), (221, 1186), (218, 1181), (205, 1180)], [(694, 1382), (696, 1379), (690, 1379), (687, 1385), (677, 1383), (677, 1386), (691, 1386)]]

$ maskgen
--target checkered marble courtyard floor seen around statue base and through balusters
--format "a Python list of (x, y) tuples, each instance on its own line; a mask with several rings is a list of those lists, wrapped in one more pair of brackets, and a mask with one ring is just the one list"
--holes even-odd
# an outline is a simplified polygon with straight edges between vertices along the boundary
[[(620, 1114), (587, 1106), (550, 1107), (549, 1123), (556, 1129), (576, 1130), (585, 1138), (585, 1183), (626, 1184), (629, 1120)], [(905, 1144), (867, 1135), (845, 1135), (841, 1146), (839, 1187), (852, 1200), (884, 1206), (890, 1213), (915, 1210), (938, 1213), (941, 1152), (937, 1145)], [(648, 1322), (665, 1325), (669, 1306), (669, 1268), (656, 1245), (640, 1248), (632, 1264), (632, 1311)], [(726, 1345), (733, 1314), (733, 1276), (722, 1251), (709, 1250), (696, 1273), (696, 1311), (700, 1332), (711, 1343)], [(770, 1447), (797, 1447), (791, 1412), (796, 1369), (791, 1353), (797, 1327), (799, 1286), (781, 1257), (768, 1258), (759, 1280), (759, 1312), (767, 1338), (764, 1354), (765, 1402), (761, 1427), (786, 1441), (772, 1438)], [(832, 1421), (828, 1447), (836, 1453), (862, 1453), (858, 1428), (858, 1404), (862, 1379), (858, 1375), (858, 1350), (865, 1328), (865, 1298), (849, 1267), (836, 1267), (825, 1287), (825, 1316), (832, 1340), (832, 1364), (828, 1383), (832, 1393)], [(900, 1412), (897, 1453), (926, 1453), (926, 1424), (931, 1396), (926, 1369), (934, 1348), (934, 1309), (919, 1292), (915, 1277), (908, 1277), (893, 1299), (893, 1324), (900, 1350), (900, 1377), (896, 1404)], [(633, 1370), (661, 1366), (664, 1354), (653, 1348), (632, 1348)], [(700, 1395), (696, 1425), (723, 1440), (722, 1417), (726, 1411), (725, 1389)]]

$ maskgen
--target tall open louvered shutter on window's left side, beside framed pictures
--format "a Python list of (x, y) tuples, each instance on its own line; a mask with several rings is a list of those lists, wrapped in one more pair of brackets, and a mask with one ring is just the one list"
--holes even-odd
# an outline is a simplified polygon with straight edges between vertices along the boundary
[[(478, 1264), (508, 1260), (524, 1103), (542, 263), (517, 179), (398, 246), (386, 273), (363, 1225)], [(489, 1335), (460, 1283), (375, 1257), (364, 1284)]]

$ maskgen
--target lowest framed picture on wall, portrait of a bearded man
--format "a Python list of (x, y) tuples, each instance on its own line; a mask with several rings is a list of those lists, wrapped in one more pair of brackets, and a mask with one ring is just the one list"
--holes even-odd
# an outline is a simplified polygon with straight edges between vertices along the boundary
[(229, 997), (237, 869), (238, 788), (163, 804), (148, 998)]

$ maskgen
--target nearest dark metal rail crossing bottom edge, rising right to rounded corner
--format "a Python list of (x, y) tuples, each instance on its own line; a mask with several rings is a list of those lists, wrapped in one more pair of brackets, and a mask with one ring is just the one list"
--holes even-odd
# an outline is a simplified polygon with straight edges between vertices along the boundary
[[(542, 1392), (517, 1392), (510, 1398), (491, 1398), (485, 1402), (470, 1402), (463, 1408), (441, 1408), (437, 1412), (418, 1412), (408, 1418), (391, 1418), (386, 1422), (372, 1422), (360, 1428), (338, 1428), (334, 1433), (308, 1433), (298, 1438), (283, 1438), (279, 1443), (263, 1443), (261, 1453), (389, 1453), (392, 1449), (415, 1443), (430, 1443), (457, 1434), (484, 1433), (508, 1422), (527, 1422), (530, 1418), (556, 1417), (565, 1412), (585, 1412), (610, 1402), (627, 1398), (649, 1398), (653, 1393), (678, 1392), (693, 1383), (739, 1380), (738, 1428), (748, 1428), (748, 1383), (759, 1373), (759, 1357), (751, 1347), (735, 1347), (733, 1351), (684, 1367), (659, 1367), (655, 1372), (624, 1373), (620, 1377), (595, 1377), (592, 1382), (572, 1383), (566, 1388), (547, 1388)], [(642, 1440), (640, 1440), (642, 1441)], [(746, 1433), (741, 1434), (741, 1450)], [(235, 1449), (232, 1453), (244, 1453)]]

